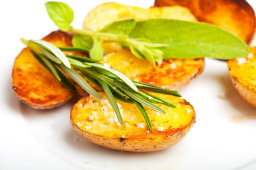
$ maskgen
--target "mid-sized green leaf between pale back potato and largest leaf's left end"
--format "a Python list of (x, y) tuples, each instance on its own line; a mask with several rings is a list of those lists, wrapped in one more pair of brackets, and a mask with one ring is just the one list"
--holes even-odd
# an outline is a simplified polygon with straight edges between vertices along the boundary
[(127, 35), (133, 30), (135, 25), (136, 25), (135, 19), (123, 19), (119, 21), (114, 21), (109, 25), (106, 25), (99, 32)]

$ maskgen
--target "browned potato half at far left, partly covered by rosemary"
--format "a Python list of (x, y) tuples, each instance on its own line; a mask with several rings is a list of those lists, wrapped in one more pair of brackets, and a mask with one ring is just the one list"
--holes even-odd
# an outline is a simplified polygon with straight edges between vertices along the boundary
[[(60, 31), (43, 38), (60, 47), (72, 46), (72, 36)], [(16, 57), (12, 70), (12, 88), (21, 102), (36, 109), (51, 109), (69, 101), (73, 92), (63, 86), (28, 48)]]

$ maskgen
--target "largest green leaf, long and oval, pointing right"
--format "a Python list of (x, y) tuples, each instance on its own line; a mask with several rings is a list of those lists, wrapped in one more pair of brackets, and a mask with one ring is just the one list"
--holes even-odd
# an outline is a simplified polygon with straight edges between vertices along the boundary
[(201, 22), (174, 19), (139, 21), (129, 37), (168, 45), (160, 48), (164, 58), (230, 59), (249, 53), (248, 46), (235, 35)]

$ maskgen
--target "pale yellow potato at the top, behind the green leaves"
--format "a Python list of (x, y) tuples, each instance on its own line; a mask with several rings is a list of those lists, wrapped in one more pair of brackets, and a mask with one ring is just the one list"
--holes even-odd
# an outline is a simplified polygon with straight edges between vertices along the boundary
[(87, 14), (83, 21), (83, 28), (94, 31), (101, 30), (105, 25), (125, 18), (135, 18), (138, 21), (152, 18), (197, 20), (187, 8), (181, 6), (152, 7), (146, 9), (116, 2), (106, 2), (96, 6)]

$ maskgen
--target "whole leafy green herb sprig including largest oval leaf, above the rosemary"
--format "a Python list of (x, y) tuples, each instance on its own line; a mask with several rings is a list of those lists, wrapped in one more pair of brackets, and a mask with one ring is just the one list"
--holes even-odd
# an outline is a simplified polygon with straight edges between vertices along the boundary
[(138, 58), (148, 60), (153, 66), (163, 58), (232, 59), (246, 56), (249, 48), (245, 42), (216, 26), (175, 19), (124, 19), (106, 25), (102, 30), (74, 29), (71, 7), (63, 2), (45, 3), (47, 13), (61, 31), (74, 35), (74, 48), (89, 51), (92, 59), (103, 56), (102, 43), (114, 41), (131, 49)]

